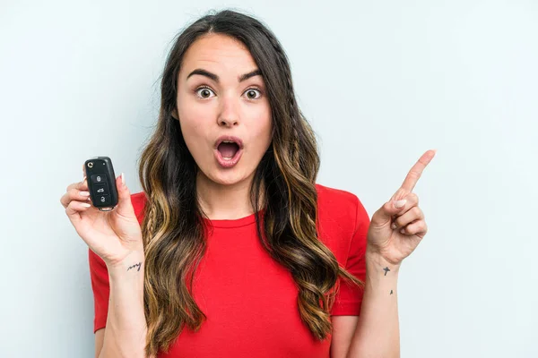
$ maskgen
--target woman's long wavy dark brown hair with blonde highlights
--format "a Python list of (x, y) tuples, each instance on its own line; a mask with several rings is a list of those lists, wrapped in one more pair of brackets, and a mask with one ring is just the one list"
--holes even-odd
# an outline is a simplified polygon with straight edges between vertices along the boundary
[[(291, 272), (299, 287), (301, 320), (314, 337), (323, 340), (331, 332), (337, 277), (363, 285), (339, 266), (317, 237), (317, 141), (299, 110), (281, 44), (253, 17), (230, 10), (212, 11), (182, 30), (169, 52), (162, 73), (159, 121), (140, 158), (139, 176), (147, 199), (142, 224), (147, 355), (168, 351), (185, 325), (197, 330), (206, 318), (191, 293), (193, 275), (205, 251), (207, 216), (197, 200), (199, 168), (172, 113), (177, 106), (183, 56), (197, 38), (210, 33), (238, 39), (262, 72), (273, 141), (250, 188), (256, 233), (271, 257)], [(265, 209), (262, 220), (260, 207)]]

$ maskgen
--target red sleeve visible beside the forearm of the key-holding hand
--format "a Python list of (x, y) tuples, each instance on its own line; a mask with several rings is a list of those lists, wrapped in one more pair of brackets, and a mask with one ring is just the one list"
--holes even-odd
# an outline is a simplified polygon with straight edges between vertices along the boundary
[(108, 297), (110, 286), (108, 282), (108, 269), (105, 261), (98, 254), (88, 248), (90, 262), (91, 290), (93, 291), (93, 333), (104, 328), (107, 324)]

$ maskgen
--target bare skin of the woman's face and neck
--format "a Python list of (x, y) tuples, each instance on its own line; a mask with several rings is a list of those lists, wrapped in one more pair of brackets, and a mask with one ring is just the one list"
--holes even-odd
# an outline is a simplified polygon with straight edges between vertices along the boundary
[[(188, 77), (195, 69), (212, 72), (219, 81), (202, 74)], [(252, 55), (238, 40), (209, 34), (188, 48), (178, 73), (174, 117), (201, 169), (196, 188), (202, 209), (211, 219), (253, 214), (248, 191), (256, 166), (271, 144), (272, 132), (263, 77), (255, 75), (239, 81), (241, 75), (256, 69)], [(232, 168), (221, 167), (214, 157), (214, 143), (222, 134), (243, 141), (243, 155)]]

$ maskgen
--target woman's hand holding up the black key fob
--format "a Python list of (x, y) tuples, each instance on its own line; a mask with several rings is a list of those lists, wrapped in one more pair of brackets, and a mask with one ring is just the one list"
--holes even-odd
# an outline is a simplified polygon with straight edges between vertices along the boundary
[(60, 199), (76, 232), (108, 267), (121, 263), (134, 251), (143, 253), (142, 230), (121, 175), (116, 178), (116, 187), (117, 207), (111, 211), (100, 211), (91, 205), (90, 196), (83, 194), (88, 192), (87, 179), (67, 186)]

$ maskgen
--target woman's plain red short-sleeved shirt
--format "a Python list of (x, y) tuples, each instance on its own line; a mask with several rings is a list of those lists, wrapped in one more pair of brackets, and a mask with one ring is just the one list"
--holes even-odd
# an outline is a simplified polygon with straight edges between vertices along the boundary
[[(366, 278), (369, 216), (360, 200), (316, 184), (320, 240), (355, 277)], [(132, 194), (134, 212), (143, 220), (143, 192)], [(308, 357), (328, 358), (331, 336), (317, 341), (302, 323), (298, 288), (290, 272), (267, 254), (256, 236), (252, 214), (234, 220), (212, 220), (207, 250), (195, 271), (193, 297), (207, 320), (197, 331), (184, 328), (165, 357)], [(207, 221), (206, 221), (207, 223)], [(94, 332), (104, 328), (108, 312), (108, 271), (89, 250), (94, 297)], [(341, 281), (331, 314), (360, 314), (362, 289)]]

